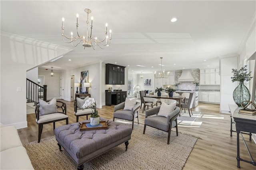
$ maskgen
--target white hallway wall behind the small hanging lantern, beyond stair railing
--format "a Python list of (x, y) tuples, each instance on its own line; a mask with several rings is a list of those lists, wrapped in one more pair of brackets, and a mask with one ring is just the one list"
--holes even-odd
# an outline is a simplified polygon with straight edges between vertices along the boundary
[(54, 76), (50, 76), (49, 70), (39, 70), (38, 75), (44, 75), (44, 85), (47, 85), (47, 100), (54, 97), (60, 99), (60, 72), (54, 71)]

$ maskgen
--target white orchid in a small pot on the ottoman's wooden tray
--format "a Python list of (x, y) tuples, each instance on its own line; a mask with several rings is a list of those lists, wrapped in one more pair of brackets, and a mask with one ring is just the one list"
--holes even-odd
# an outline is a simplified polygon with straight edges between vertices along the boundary
[(90, 117), (90, 125), (96, 126), (100, 124), (100, 115), (98, 115), (98, 111), (96, 110), (96, 100), (94, 98), (89, 97), (84, 102), (84, 105), (82, 106), (82, 110), (90, 108), (92, 109), (92, 114)]

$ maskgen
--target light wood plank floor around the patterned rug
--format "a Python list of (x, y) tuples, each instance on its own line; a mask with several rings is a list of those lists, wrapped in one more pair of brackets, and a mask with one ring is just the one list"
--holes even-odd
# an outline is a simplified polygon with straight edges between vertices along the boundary
[[(74, 102), (64, 101), (67, 104), (69, 123), (75, 123)], [(97, 109), (99, 115), (106, 119), (113, 118), (114, 105), (103, 106)], [(230, 136), (230, 115), (220, 114), (219, 105), (199, 103), (193, 111), (201, 111), (201, 117), (196, 119), (198, 126), (179, 126), (178, 131), (199, 137), (183, 170), (238, 170), (236, 167), (236, 133)], [(144, 122), (144, 116), (140, 115), (140, 123)], [(80, 117), (79, 121), (86, 117)], [(35, 114), (27, 115), (28, 127), (18, 130), (22, 143), (37, 140), (38, 125), (35, 123)], [(56, 127), (65, 125), (65, 121), (56, 123)], [(235, 129), (233, 127), (233, 129)], [(53, 136), (53, 125), (43, 127), (42, 137)], [(256, 160), (256, 145), (249, 141), (249, 136), (243, 135), (253, 158)], [(171, 136), (175, 137), (175, 136)], [(171, 143), (170, 143), (171, 144)], [(240, 138), (240, 157), (250, 160), (244, 144)], [(246, 162), (240, 162), (241, 170), (255, 170), (256, 166)]]

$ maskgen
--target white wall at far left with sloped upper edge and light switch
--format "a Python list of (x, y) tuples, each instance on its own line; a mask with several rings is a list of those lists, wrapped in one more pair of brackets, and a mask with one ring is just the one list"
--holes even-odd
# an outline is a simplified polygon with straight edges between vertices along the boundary
[[(55, 57), (67, 53), (68, 48), (1, 32), (0, 122), (27, 127), (26, 73)], [(21, 92), (17, 92), (21, 87)]]

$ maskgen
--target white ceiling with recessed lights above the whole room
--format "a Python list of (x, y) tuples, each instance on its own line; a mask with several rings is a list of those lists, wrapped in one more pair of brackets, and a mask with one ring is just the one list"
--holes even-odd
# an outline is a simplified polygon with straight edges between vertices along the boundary
[[(80, 34), (86, 34), (85, 8), (92, 10), (93, 36), (104, 35), (108, 22), (112, 42), (107, 49), (84, 50), (82, 44), (72, 47), (62, 41), (62, 17), (65, 32), (70, 34), (76, 32), (76, 13), (79, 13), (78, 29)], [(255, 12), (255, 0), (1, 0), (1, 31), (73, 49), (64, 57), (40, 66), (41, 69), (54, 67), (54, 71), (62, 71), (102, 60), (126, 66), (129, 73), (150, 73), (160, 70), (160, 57), (165, 70), (218, 67), (219, 57), (240, 53)], [(173, 17), (177, 22), (170, 22)]]

